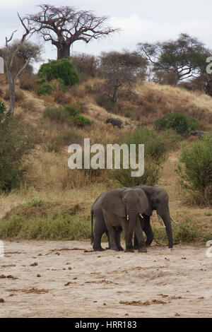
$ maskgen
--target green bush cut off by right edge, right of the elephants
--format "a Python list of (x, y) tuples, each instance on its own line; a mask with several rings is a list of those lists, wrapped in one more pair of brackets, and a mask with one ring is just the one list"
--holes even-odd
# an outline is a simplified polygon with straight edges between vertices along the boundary
[(197, 204), (212, 203), (212, 136), (184, 146), (177, 174), (188, 197)]

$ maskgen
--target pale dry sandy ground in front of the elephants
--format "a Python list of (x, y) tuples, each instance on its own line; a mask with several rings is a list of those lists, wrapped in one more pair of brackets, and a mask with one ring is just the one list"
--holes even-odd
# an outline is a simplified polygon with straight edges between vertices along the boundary
[(88, 242), (5, 241), (0, 317), (212, 316), (206, 247), (91, 249)]

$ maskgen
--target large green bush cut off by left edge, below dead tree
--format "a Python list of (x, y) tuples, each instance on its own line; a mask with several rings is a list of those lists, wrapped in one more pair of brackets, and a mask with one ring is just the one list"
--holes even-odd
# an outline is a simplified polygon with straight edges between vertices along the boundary
[(34, 143), (18, 120), (4, 112), (0, 122), (0, 191), (11, 191), (24, 181), (28, 167), (24, 157)]

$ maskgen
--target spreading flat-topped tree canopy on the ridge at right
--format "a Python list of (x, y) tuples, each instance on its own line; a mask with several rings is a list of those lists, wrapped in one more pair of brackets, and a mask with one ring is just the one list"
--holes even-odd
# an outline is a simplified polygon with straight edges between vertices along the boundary
[(206, 58), (211, 54), (205, 45), (186, 33), (177, 40), (138, 44), (141, 55), (153, 66), (154, 72), (175, 73), (176, 81), (199, 76), (206, 69)]

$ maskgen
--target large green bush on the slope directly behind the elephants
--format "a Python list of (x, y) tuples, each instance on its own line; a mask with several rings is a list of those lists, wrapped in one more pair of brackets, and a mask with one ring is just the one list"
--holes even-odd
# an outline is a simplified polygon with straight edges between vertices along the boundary
[(155, 129), (147, 129), (143, 126), (138, 126), (136, 131), (126, 136), (122, 143), (126, 143), (128, 146), (130, 146), (130, 144), (136, 144), (136, 147), (139, 144), (144, 144), (143, 176), (131, 177), (131, 169), (124, 170), (123, 165), (121, 165), (120, 170), (108, 172), (108, 177), (117, 180), (122, 186), (136, 186), (139, 184), (151, 186), (157, 183), (162, 168), (161, 163), (164, 161), (166, 153), (177, 147), (178, 141), (179, 136), (173, 134), (171, 131), (164, 131), (158, 134)]

